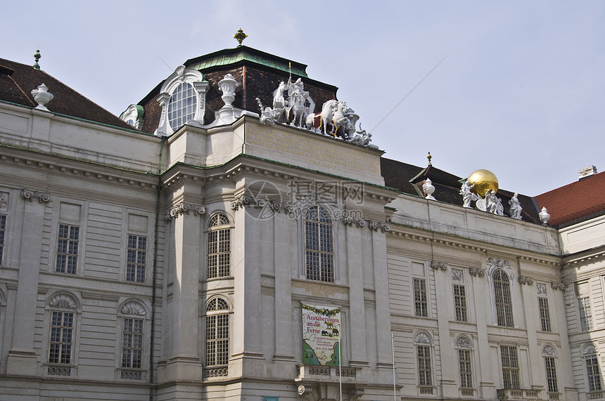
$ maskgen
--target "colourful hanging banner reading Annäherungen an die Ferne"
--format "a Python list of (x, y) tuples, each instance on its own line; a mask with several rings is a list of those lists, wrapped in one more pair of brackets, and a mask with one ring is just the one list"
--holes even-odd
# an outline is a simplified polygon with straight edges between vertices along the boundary
[(303, 303), (303, 363), (338, 366), (340, 308)]

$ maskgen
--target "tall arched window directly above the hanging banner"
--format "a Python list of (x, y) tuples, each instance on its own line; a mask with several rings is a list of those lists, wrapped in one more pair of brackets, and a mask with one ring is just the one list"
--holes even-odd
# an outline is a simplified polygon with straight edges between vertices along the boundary
[(305, 265), (307, 279), (334, 282), (332, 218), (317, 205), (305, 213)]

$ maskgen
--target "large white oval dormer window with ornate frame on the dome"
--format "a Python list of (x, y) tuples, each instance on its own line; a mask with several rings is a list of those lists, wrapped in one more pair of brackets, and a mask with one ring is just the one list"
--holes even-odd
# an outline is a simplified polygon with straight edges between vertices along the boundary
[(184, 65), (164, 81), (157, 100), (162, 106), (157, 136), (169, 136), (190, 121), (204, 124), (208, 81), (204, 74)]

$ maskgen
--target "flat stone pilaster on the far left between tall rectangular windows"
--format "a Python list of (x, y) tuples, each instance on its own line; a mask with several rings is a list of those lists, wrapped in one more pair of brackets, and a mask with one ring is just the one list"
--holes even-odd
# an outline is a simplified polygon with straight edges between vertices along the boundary
[[(42, 192), (23, 190), (23, 223), (21, 223), (21, 249), (19, 276), (15, 299), (13, 344), (8, 351), (8, 374), (37, 375), (37, 355), (34, 352), (34, 325), (42, 253), (42, 226), (44, 204), (50, 196)], [(44, 359), (44, 358), (43, 358)]]

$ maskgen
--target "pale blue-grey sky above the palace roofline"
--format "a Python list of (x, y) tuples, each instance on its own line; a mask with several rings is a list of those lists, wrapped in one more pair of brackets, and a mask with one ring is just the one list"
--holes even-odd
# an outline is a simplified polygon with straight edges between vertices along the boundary
[(439, 169), (489, 169), (531, 196), (582, 167), (605, 171), (605, 1), (10, 1), (1, 12), (0, 58), (33, 64), (40, 49), (42, 70), (116, 115), (189, 58), (235, 47), (242, 28), (246, 46), (338, 86), (385, 157), (426, 166), (431, 152)]

